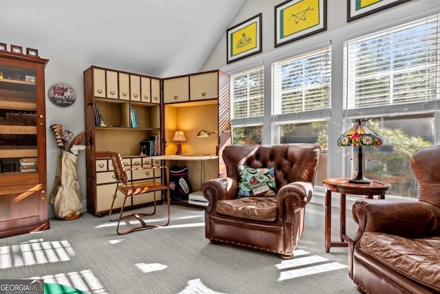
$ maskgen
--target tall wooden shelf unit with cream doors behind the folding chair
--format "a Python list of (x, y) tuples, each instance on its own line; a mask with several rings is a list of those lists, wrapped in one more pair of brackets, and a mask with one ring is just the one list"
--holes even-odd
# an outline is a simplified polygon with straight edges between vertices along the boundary
[[(152, 99), (157, 97), (154, 92), (157, 90), (156, 81), (157, 78), (96, 66), (85, 70), (87, 211), (90, 213), (102, 216), (110, 209), (115, 181), (111, 180), (113, 167), (109, 151), (118, 152), (129, 161), (133, 157), (140, 158), (143, 162), (141, 165), (146, 165), (148, 157), (140, 156), (140, 142), (155, 136), (156, 154), (146, 155), (162, 154), (162, 105), (157, 99)], [(96, 109), (102, 122), (96, 116)], [(105, 170), (100, 168), (102, 160), (107, 162)], [(137, 180), (142, 180), (139, 175), (135, 176)], [(149, 179), (148, 176), (146, 178)], [(137, 198), (136, 202), (128, 206), (130, 208), (151, 202), (153, 198), (145, 196)]]

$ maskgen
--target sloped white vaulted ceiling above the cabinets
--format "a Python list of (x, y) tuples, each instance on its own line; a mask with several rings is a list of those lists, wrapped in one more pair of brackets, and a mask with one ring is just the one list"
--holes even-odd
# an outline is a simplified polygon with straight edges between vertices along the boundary
[(0, 43), (157, 77), (198, 72), (245, 0), (0, 1)]

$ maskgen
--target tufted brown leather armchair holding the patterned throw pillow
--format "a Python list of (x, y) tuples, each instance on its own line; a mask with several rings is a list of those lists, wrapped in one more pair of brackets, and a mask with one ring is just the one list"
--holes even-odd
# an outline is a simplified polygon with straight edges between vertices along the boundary
[[(226, 146), (227, 177), (208, 180), (201, 189), (209, 201), (206, 238), (292, 258), (303, 233), (319, 156), (320, 147), (314, 144)], [(274, 167), (276, 196), (237, 198), (237, 165)]]

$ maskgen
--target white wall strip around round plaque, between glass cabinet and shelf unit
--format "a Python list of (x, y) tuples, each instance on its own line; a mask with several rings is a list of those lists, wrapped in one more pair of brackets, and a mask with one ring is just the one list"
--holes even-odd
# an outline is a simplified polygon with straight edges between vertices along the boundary
[[(48, 58), (50, 59), (50, 58)], [(73, 63), (59, 59), (50, 59), (45, 68), (45, 104), (46, 104), (46, 147), (47, 147), (47, 193), (50, 198), (58, 157), (61, 149), (56, 145), (55, 135), (50, 129), (51, 125), (63, 125), (63, 129), (74, 132), (74, 136), (85, 132), (84, 116), (84, 76), (83, 71), (90, 65), (83, 63)], [(76, 101), (68, 107), (60, 107), (50, 101), (47, 91), (51, 85), (63, 83), (70, 85), (76, 92)], [(86, 209), (86, 171), (85, 171), (85, 151), (80, 151), (78, 163), (76, 165), (80, 193)], [(54, 218), (54, 208), (48, 205), (48, 217)]]

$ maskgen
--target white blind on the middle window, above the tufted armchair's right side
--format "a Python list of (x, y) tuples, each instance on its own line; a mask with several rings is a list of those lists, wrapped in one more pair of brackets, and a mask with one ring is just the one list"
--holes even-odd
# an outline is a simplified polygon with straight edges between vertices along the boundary
[(274, 114), (330, 107), (331, 47), (273, 64)]

